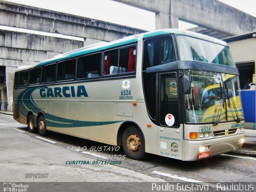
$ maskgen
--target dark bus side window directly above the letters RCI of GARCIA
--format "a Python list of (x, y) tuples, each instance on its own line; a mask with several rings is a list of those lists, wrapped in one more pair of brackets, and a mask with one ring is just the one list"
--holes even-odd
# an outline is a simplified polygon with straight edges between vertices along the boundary
[(72, 80), (75, 78), (76, 59), (58, 62), (57, 81)]

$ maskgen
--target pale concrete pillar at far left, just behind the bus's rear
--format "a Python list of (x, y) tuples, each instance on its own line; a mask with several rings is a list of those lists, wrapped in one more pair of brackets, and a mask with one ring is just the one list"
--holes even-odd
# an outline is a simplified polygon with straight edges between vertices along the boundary
[(14, 72), (16, 67), (6, 67), (6, 90), (9, 111), (12, 111)]

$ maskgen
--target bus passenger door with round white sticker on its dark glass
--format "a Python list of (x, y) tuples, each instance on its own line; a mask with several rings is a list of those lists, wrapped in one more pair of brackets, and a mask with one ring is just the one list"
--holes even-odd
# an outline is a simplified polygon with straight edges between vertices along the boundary
[(159, 155), (182, 159), (183, 125), (180, 124), (177, 73), (160, 73), (158, 78)]

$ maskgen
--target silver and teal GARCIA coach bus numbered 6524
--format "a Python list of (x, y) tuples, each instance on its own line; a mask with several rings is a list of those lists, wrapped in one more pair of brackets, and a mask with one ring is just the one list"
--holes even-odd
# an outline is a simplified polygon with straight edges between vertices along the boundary
[(242, 147), (238, 74), (221, 40), (145, 32), (17, 68), (13, 116), (32, 133), (122, 146), (135, 160), (200, 160)]

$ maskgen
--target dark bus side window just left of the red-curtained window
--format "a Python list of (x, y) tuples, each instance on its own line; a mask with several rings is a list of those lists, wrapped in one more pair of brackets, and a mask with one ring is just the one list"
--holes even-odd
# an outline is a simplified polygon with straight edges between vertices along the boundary
[(100, 76), (101, 53), (78, 58), (77, 78), (92, 78)]

